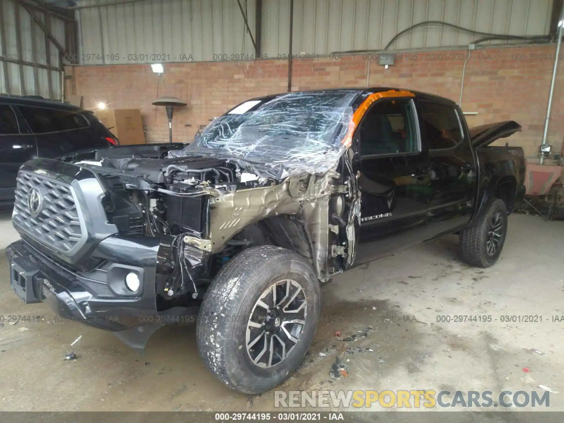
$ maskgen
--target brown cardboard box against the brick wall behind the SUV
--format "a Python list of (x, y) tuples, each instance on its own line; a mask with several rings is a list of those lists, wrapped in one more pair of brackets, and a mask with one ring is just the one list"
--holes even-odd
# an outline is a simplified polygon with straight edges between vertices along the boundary
[(96, 117), (120, 141), (121, 146), (144, 144), (143, 121), (139, 109), (107, 109), (95, 112)]

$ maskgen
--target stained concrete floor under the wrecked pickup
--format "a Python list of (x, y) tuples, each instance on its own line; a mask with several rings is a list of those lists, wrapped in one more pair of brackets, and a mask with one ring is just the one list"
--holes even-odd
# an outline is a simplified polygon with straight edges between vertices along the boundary
[[(564, 222), (512, 215), (509, 224), (501, 259), (488, 269), (462, 263), (452, 235), (355, 268), (325, 285), (314, 344), (303, 366), (279, 389), (499, 393), (541, 391), (542, 384), (560, 393), (550, 396), (550, 410), (564, 410), (564, 323), (551, 321), (564, 315)], [(0, 224), (3, 246), (15, 239), (6, 226)], [(45, 305), (19, 301), (9, 287), (3, 253), (0, 281), (5, 320), (8, 315), (47, 318), (44, 323), (5, 321), (0, 327), (2, 410), (273, 409), (272, 391), (251, 397), (211, 376), (197, 354), (194, 326), (160, 329), (142, 357), (111, 333), (55, 322)], [(492, 321), (439, 323), (440, 315), (491, 315)], [(502, 323), (502, 315), (541, 315), (543, 321)], [(359, 336), (367, 327), (373, 330), (355, 341), (334, 336), (335, 331), (341, 338)], [(331, 380), (335, 356), (347, 347), (355, 351), (343, 355), (350, 360), (349, 377)], [(73, 350), (78, 359), (65, 361)], [(527, 383), (525, 376), (532, 380)]]

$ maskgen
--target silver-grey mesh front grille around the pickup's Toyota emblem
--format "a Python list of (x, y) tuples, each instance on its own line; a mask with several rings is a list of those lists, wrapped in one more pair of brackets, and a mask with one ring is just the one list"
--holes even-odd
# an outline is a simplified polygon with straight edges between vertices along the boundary
[[(30, 191), (36, 188), (42, 197), (41, 212), (33, 217), (28, 206)], [(69, 253), (83, 244), (80, 217), (72, 188), (42, 175), (20, 171), (12, 222), (39, 243), (60, 253)]]

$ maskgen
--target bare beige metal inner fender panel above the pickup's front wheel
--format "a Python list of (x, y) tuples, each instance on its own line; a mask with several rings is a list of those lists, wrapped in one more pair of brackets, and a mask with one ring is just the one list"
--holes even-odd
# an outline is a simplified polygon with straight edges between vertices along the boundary
[[(343, 178), (335, 170), (323, 175), (289, 177), (271, 186), (237, 190), (231, 193), (210, 195), (208, 237), (193, 235), (183, 237), (184, 245), (193, 246), (209, 254), (218, 254), (238, 234), (258, 226), (267, 232), (278, 226), (270, 239), (280, 246), (294, 248), (291, 234), (285, 231), (288, 219), (297, 222), (307, 236), (306, 249), (321, 281), (341, 273), (354, 261), (355, 204), (359, 201), (355, 181)], [(280, 217), (279, 219), (272, 219)], [(356, 218), (355, 218), (356, 217)], [(258, 225), (257, 225), (258, 224)], [(263, 234), (263, 239), (268, 233)], [(256, 245), (252, 239), (249, 246)], [(262, 241), (262, 240), (261, 240)]]

